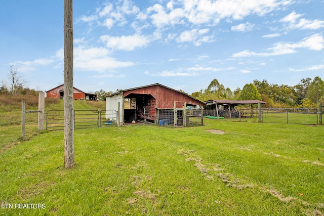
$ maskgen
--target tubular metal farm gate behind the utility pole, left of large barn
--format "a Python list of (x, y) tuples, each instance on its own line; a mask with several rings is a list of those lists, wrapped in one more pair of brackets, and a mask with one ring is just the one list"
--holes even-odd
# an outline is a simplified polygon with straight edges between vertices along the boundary
[[(117, 124), (116, 110), (74, 110), (74, 129), (103, 127)], [(64, 111), (49, 110), (46, 112), (46, 129), (49, 131), (64, 130)]]

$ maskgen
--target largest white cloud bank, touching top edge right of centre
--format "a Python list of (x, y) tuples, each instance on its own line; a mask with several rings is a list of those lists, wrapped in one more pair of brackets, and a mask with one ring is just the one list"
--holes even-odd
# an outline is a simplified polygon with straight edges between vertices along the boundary
[(158, 28), (189, 22), (194, 25), (216, 25), (221, 19), (241, 20), (257, 14), (263, 16), (292, 4), (292, 0), (181, 0), (169, 1), (166, 7), (155, 4), (140, 13), (139, 18), (150, 18)]

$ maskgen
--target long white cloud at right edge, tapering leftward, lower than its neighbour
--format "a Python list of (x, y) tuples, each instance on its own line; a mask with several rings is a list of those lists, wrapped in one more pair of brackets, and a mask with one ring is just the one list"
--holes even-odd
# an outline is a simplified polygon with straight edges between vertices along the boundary
[(239, 53), (235, 53), (232, 55), (234, 58), (239, 57), (251, 57), (251, 56), (278, 56), (278, 55), (285, 55), (285, 54), (292, 54), (296, 53), (296, 49), (306, 48), (309, 50), (320, 51), (324, 49), (324, 39), (320, 34), (313, 34), (309, 37), (305, 37), (302, 41), (297, 42), (295, 44), (289, 44), (287, 42), (277, 42), (274, 44), (273, 47), (267, 49), (267, 53), (256, 53), (251, 52), (249, 50), (245, 50)]

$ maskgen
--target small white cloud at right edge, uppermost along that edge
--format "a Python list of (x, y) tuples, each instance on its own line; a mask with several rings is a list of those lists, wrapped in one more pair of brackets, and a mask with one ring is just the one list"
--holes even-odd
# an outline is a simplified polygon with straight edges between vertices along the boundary
[(319, 29), (324, 27), (323, 20), (299, 19), (303, 14), (297, 14), (295, 11), (280, 19), (280, 22), (287, 23), (289, 29)]

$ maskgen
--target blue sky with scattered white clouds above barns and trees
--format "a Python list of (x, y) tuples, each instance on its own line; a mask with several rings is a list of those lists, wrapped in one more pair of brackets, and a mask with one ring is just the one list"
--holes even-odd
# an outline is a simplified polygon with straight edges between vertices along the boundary
[[(0, 81), (63, 83), (64, 1), (1, 1)], [(295, 85), (324, 79), (323, 0), (73, 1), (74, 87), (161, 83), (189, 94), (218, 79)]]

